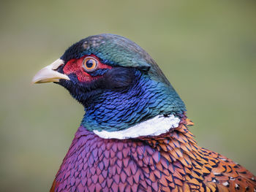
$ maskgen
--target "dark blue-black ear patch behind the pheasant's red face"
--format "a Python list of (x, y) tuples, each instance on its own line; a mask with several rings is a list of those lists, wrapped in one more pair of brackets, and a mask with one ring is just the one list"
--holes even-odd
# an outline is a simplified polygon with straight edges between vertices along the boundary
[(105, 73), (103, 86), (109, 89), (124, 89), (135, 79), (135, 70), (127, 67), (116, 67)]

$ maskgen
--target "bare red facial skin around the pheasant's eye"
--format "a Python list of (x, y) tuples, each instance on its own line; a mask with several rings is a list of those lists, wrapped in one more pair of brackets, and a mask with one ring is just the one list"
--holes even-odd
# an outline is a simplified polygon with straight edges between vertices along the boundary
[[(91, 76), (89, 73), (85, 72), (85, 70), (83, 69), (83, 60), (86, 57), (92, 57), (95, 58), (97, 60), (97, 67), (95, 70), (97, 69), (112, 69), (111, 66), (108, 66), (106, 64), (102, 64), (102, 62), (99, 61), (99, 58), (97, 58), (96, 55), (84, 55), (81, 58), (72, 58), (70, 59), (67, 64), (64, 66), (63, 72), (64, 74), (76, 74), (76, 76), (78, 77), (78, 80), (80, 82), (90, 82), (91, 80), (95, 80), (97, 78), (99, 78), (99, 76)], [(94, 71), (95, 71), (94, 70)]]

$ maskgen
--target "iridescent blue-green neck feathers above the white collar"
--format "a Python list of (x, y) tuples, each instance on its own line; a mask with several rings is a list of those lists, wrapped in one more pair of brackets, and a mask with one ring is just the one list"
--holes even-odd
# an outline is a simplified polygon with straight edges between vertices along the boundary
[(179, 117), (184, 103), (171, 85), (142, 75), (125, 91), (104, 91), (85, 106), (81, 126), (89, 131), (120, 131), (157, 115)]

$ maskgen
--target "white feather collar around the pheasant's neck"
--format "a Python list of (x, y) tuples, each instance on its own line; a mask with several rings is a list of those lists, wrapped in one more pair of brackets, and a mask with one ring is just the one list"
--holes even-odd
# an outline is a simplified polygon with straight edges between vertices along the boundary
[(140, 136), (158, 136), (165, 134), (170, 128), (178, 127), (179, 122), (180, 119), (176, 118), (174, 115), (168, 117), (158, 115), (121, 131), (94, 130), (94, 134), (97, 134), (103, 139), (129, 139)]

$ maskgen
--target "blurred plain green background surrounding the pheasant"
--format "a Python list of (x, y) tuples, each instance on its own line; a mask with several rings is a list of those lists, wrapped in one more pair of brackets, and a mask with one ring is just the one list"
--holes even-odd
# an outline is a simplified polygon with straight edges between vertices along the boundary
[(83, 107), (31, 79), (101, 33), (147, 50), (187, 104), (199, 145), (256, 174), (255, 10), (255, 1), (1, 1), (1, 191), (49, 190)]

